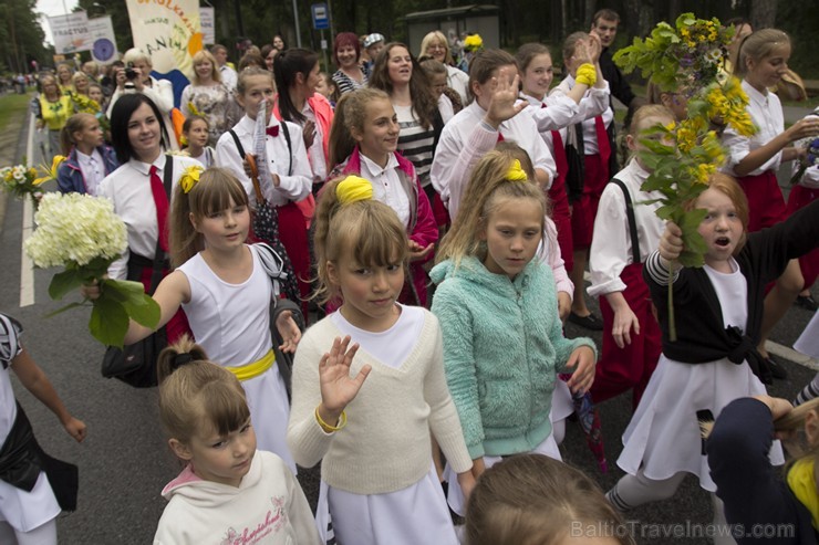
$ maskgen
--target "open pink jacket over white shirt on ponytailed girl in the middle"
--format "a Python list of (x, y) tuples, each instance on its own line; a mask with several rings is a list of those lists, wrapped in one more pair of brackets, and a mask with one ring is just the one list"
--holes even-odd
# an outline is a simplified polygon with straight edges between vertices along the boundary
[[(409, 193), (409, 202), (416, 205), (414, 207), (409, 207), (409, 224), (407, 226), (409, 240), (413, 240), (419, 245), (426, 248), (438, 241), (438, 227), (435, 224), (435, 216), (433, 216), (429, 199), (421, 187), (421, 182), (418, 181), (418, 177), (415, 175), (415, 167), (413, 167), (413, 164), (397, 151), (395, 151), (395, 158), (398, 160), (398, 178), (401, 178), (402, 184), (404, 184), (404, 188), (407, 190), (407, 193)], [(361, 174), (361, 151), (359, 150), (359, 146), (355, 146), (355, 149), (353, 149), (353, 153), (348, 157), (346, 161), (342, 163), (333, 170), (339, 169), (343, 175)], [(332, 176), (330, 178), (332, 179)], [(435, 252), (431, 252), (424, 261), (414, 261), (409, 264), (409, 272), (413, 275), (412, 284), (415, 293), (413, 297), (402, 297), (403, 303), (426, 306), (426, 271), (424, 271), (423, 264), (433, 259), (434, 255)]]

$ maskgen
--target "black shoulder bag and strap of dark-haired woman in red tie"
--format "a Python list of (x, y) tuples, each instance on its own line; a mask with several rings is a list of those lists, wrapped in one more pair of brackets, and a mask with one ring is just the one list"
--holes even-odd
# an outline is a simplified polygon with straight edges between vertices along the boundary
[[(174, 161), (167, 156), (165, 161), (164, 186), (165, 193), (170, 201), (170, 180), (173, 178)], [(153, 262), (145, 258), (132, 254), (128, 261), (128, 280), (138, 282), (142, 275), (142, 269), (147, 263), (152, 263), (151, 289), (148, 295), (153, 295), (156, 286), (162, 280), (163, 269), (166, 268), (165, 252), (159, 247), (157, 237), (156, 251), (154, 252)], [(165, 327), (160, 327), (144, 339), (126, 345), (123, 348), (108, 346), (103, 356), (101, 373), (105, 378), (116, 378), (134, 388), (151, 388), (158, 384), (156, 378), (156, 360), (159, 353), (168, 345), (168, 336)]]

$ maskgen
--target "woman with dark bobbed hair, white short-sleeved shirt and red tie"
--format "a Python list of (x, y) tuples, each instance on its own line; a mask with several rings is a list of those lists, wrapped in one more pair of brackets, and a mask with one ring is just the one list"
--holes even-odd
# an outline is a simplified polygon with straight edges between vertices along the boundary
[[(108, 276), (142, 282), (151, 291), (156, 252), (168, 251), (166, 229), (169, 195), (187, 167), (198, 161), (165, 155), (168, 134), (157, 105), (141, 93), (125, 94), (111, 112), (111, 135), (120, 168), (100, 182), (97, 196), (107, 197), (127, 227), (128, 247), (108, 268)], [(169, 265), (164, 259), (163, 276)], [(189, 333), (184, 313), (166, 326), (168, 342)]]

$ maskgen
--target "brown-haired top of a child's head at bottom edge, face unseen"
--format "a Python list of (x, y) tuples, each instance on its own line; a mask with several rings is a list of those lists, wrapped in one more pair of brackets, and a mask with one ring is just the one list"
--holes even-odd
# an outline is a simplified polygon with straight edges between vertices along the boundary
[(571, 530), (609, 528), (633, 545), (629, 527), (600, 486), (570, 465), (542, 454), (518, 454), (478, 480), (466, 507), (467, 545), (562, 543)]

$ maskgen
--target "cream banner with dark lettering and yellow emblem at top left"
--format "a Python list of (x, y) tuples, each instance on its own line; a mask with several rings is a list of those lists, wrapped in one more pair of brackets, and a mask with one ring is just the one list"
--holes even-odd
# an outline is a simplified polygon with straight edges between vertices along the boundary
[(199, 0), (126, 0), (134, 46), (151, 56), (154, 71), (193, 75), (193, 55), (201, 50)]

